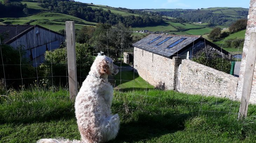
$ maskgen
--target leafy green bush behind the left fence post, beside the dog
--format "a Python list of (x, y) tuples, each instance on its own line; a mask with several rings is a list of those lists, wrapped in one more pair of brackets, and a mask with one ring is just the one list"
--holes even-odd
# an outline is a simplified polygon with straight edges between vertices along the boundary
[[(88, 44), (76, 43), (77, 76), (88, 75), (93, 56)], [(65, 86), (67, 83), (67, 48), (58, 48), (54, 51), (46, 51), (45, 61), (40, 65), (44, 75), (49, 77), (53, 85)], [(52, 76), (55, 76), (52, 78)]]

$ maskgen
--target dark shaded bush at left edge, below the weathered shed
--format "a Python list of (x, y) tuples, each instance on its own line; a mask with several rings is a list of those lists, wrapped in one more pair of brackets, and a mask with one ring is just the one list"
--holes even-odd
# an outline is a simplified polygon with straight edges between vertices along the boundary
[[(28, 85), (40, 76), (40, 71), (36, 72), (36, 68), (28, 59), (24, 58), (22, 47), (13, 48), (9, 45), (1, 45), (0, 78), (8, 79), (6, 84), (8, 87), (18, 88)], [(23, 79), (22, 79), (23, 78)]]

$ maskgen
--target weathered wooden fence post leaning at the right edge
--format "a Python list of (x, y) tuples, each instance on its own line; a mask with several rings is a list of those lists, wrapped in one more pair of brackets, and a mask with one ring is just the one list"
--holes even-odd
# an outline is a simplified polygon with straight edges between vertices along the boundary
[(242, 98), (240, 109), (238, 113), (238, 119), (243, 119), (247, 116), (249, 99), (251, 95), (251, 85), (252, 78), (254, 74), (254, 66), (256, 60), (256, 33), (251, 32), (250, 45), (248, 49), (245, 72), (244, 72), (244, 82), (243, 82), (243, 90), (242, 90)]

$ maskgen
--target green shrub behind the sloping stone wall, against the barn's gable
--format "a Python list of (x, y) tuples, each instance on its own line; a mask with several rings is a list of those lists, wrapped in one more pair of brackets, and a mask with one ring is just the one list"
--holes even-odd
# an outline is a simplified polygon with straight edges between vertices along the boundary
[(207, 54), (202, 52), (197, 55), (197, 57), (192, 59), (197, 63), (201, 63), (202, 65), (217, 69), (219, 71), (223, 71), (225, 73), (230, 72), (231, 62), (226, 58), (220, 57), (220, 55), (214, 53), (210, 58), (207, 58)]

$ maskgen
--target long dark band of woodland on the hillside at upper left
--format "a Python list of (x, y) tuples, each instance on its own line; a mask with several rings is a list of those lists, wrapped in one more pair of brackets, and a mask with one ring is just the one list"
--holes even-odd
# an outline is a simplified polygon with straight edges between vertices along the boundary
[(162, 23), (162, 16), (159, 15), (122, 16), (120, 14), (112, 13), (110, 10), (103, 10), (102, 8), (93, 9), (86, 3), (75, 1), (40, 0), (38, 2), (39, 6), (43, 8), (52, 10), (57, 13), (69, 14), (90, 22), (107, 23), (110, 25), (115, 25), (121, 22), (125, 26), (133, 27), (154, 26)]

